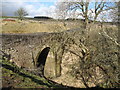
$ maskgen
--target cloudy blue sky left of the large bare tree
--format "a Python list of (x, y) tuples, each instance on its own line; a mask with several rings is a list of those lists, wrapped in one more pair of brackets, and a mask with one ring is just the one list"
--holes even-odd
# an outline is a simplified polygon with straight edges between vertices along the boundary
[[(56, 3), (59, 1), (61, 0), (3, 0), (2, 14), (4, 16), (14, 16), (14, 12), (20, 7), (23, 7), (29, 13), (28, 17), (49, 16), (56, 18)], [(90, 7), (92, 7), (92, 5)]]

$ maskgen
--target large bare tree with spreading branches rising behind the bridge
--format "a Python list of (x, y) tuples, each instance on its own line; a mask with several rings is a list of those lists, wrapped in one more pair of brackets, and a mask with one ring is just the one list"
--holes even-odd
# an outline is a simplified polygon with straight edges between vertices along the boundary
[[(82, 16), (85, 19), (85, 28), (88, 24), (89, 17), (93, 13), (93, 22), (96, 21), (97, 17), (100, 15), (101, 12), (103, 11), (108, 11), (110, 9), (113, 9), (114, 7), (112, 6), (114, 2), (105, 2), (104, 0), (97, 1), (96, 2), (89, 2), (89, 0), (76, 0), (76, 2), (62, 2), (60, 5), (62, 8), (65, 5), (65, 8), (62, 10), (62, 12), (70, 12), (70, 11), (76, 11), (79, 10), (80, 13), (78, 16)], [(112, 4), (112, 5), (111, 5)], [(94, 6), (94, 8), (90, 8), (90, 6)], [(60, 6), (59, 6), (60, 8)], [(67, 10), (65, 10), (67, 9)], [(61, 13), (62, 14), (62, 13)]]

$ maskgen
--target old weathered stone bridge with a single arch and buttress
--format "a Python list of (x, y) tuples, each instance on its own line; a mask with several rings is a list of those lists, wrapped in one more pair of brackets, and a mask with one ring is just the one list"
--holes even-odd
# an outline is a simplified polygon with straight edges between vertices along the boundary
[[(84, 57), (87, 49), (82, 44), (79, 30), (62, 33), (2, 34), (2, 59), (7, 59), (26, 70), (44, 70), (47, 77), (61, 75), (63, 60)], [(43, 65), (43, 66), (41, 66)], [(37, 71), (40, 72), (40, 71)]]

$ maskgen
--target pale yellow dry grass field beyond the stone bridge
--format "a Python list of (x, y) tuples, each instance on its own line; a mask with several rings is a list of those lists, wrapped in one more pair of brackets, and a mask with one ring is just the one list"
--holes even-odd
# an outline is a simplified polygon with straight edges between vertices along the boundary
[[(2, 21), (1, 33), (35, 33), (35, 32), (60, 32), (67, 29), (78, 28), (78, 22), (66, 22), (66, 26), (60, 21)], [(79, 25), (78, 25), (79, 24)]]

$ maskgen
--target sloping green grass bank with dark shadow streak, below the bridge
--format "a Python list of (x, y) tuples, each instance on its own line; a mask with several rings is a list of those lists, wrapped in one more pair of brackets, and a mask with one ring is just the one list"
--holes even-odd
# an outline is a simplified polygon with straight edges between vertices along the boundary
[[(2, 63), (1, 63), (2, 62)], [(45, 78), (34, 75), (21, 68), (18, 68), (9, 61), (0, 60), (2, 64), (2, 84), (3, 87), (14, 88), (62, 88), (64, 86)]]

